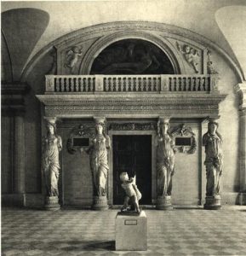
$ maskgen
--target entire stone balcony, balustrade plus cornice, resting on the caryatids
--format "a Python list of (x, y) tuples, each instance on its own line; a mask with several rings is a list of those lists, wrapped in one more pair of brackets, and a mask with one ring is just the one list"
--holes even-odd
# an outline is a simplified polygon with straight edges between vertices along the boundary
[(217, 75), (47, 75), (44, 114), (60, 118), (206, 118), (226, 97)]

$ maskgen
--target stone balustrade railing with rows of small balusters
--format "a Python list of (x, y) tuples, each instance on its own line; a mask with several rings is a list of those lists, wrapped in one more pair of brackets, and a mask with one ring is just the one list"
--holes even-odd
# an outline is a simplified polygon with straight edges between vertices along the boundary
[(46, 75), (46, 92), (211, 92), (217, 82), (217, 75)]

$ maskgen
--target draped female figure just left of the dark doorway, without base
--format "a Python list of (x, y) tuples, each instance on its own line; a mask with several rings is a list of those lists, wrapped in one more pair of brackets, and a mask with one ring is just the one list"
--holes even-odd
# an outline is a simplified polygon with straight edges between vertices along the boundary
[(110, 137), (104, 131), (104, 123), (99, 122), (95, 125), (96, 134), (91, 139), (89, 148), (90, 168), (94, 182), (94, 195), (106, 195), (106, 181), (108, 166), (108, 149), (110, 145)]

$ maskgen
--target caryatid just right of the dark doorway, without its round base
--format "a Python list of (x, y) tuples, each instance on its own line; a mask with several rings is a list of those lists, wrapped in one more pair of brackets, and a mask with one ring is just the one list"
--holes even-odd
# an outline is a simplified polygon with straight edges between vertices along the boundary
[(157, 123), (157, 196), (167, 197), (172, 191), (174, 175), (174, 140), (169, 134), (169, 119)]

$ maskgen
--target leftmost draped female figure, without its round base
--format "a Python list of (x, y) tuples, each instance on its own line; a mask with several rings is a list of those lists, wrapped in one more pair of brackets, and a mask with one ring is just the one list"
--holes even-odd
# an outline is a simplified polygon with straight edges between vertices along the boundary
[(47, 136), (43, 139), (42, 169), (47, 196), (58, 196), (58, 178), (60, 171), (59, 152), (62, 149), (61, 137), (56, 134), (56, 126), (48, 122)]

